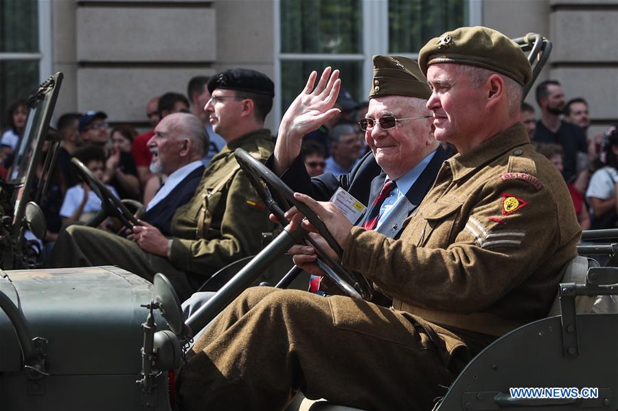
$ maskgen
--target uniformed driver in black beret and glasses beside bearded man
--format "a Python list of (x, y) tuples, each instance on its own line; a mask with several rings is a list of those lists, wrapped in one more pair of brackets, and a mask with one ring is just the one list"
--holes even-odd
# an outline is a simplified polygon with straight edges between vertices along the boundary
[(220, 268), (262, 249), (261, 233), (274, 224), (233, 151), (242, 148), (261, 161), (273, 152), (264, 119), (274, 84), (258, 71), (233, 69), (214, 75), (208, 89), (205, 110), (227, 145), (212, 158), (193, 198), (174, 213), (172, 237), (145, 222), (133, 228), (131, 240), (71, 226), (58, 238), (50, 267), (115, 265), (150, 281), (163, 272), (184, 300)]

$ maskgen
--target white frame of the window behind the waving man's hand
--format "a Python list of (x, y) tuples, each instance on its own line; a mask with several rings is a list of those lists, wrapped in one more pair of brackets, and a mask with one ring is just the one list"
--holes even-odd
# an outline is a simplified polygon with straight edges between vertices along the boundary
[[(284, 61), (308, 61), (308, 60), (342, 60), (363, 62), (363, 84), (367, 84), (365, 95), (369, 94), (371, 78), (374, 74), (371, 56), (374, 54), (387, 54), (389, 49), (389, 3), (388, 0), (361, 0), (361, 27), (371, 27), (371, 30), (363, 32), (362, 54), (301, 54), (281, 52), (281, 13), (280, 0), (273, 1), (274, 16), (274, 75), (275, 75), (275, 101), (273, 102), (273, 115), (275, 130), (279, 128), (279, 122), (284, 114), (281, 104), (282, 96), (282, 67)], [(482, 0), (468, 0), (468, 25), (482, 25), (483, 5)], [(401, 54), (404, 57), (417, 58), (417, 53)], [(309, 73), (307, 73), (308, 75)]]

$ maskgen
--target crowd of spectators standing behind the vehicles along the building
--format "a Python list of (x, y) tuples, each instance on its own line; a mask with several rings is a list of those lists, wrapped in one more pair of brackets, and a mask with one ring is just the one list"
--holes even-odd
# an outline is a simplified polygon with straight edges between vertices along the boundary
[[(187, 85), (187, 96), (164, 93), (146, 104), (146, 116), (152, 127), (139, 134), (128, 124), (114, 123), (100, 110), (65, 113), (58, 117), (56, 129), (62, 143), (57, 154), (57, 172), (43, 200), (48, 220), (45, 240), (53, 242), (60, 229), (71, 222), (87, 221), (101, 207), (100, 200), (78, 179), (71, 158), (77, 157), (118, 198), (139, 200), (148, 207), (155, 193), (165, 183), (165, 175), (152, 165), (148, 141), (161, 119), (172, 113), (192, 113), (205, 127), (208, 147), (203, 165), (207, 165), (225, 145), (209, 124), (203, 106), (210, 98), (209, 78), (196, 76)], [(567, 102), (560, 82), (545, 80), (536, 87), (537, 110), (522, 104), (521, 122), (538, 151), (560, 169), (573, 198), (582, 229), (617, 226), (618, 134), (615, 127), (605, 133), (586, 136), (590, 126), (588, 102), (573, 97)], [(369, 151), (365, 132), (358, 121), (365, 117), (368, 102), (357, 103), (345, 90), (339, 93), (339, 115), (306, 135), (301, 156), (308, 174), (330, 172), (335, 176), (350, 172)], [(25, 128), (27, 107), (24, 100), (11, 104), (7, 113), (8, 128), (0, 140), (0, 177), (5, 178), (13, 152)], [(445, 147), (446, 148), (446, 147)], [(454, 148), (448, 148), (454, 153)], [(156, 162), (155, 162), (156, 163)], [(103, 224), (109, 227), (109, 222)]]

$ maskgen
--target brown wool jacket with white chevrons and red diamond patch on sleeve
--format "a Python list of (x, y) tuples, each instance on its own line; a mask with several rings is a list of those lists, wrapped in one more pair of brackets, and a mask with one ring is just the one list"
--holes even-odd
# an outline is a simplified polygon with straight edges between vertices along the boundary
[(393, 307), (501, 336), (547, 315), (581, 228), (564, 179), (521, 124), (448, 159), (398, 240), (354, 227), (343, 263)]

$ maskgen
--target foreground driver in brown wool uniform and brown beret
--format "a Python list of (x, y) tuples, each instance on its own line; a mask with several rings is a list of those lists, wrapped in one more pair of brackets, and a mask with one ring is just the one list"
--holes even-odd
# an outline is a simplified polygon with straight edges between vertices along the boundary
[[(343, 266), (393, 307), (246, 290), (187, 355), (181, 409), (281, 410), (302, 390), (358, 408), (428, 410), (473, 355), (547, 315), (581, 231), (562, 176), (520, 123), (527, 58), (495, 30), (463, 27), (430, 40), (419, 65), (433, 89), (435, 137), (459, 154), (400, 237), (295, 193), (343, 248)], [(295, 209), (286, 217), (313, 230)], [(308, 256), (295, 261), (309, 268)]]

